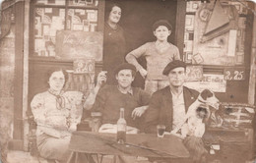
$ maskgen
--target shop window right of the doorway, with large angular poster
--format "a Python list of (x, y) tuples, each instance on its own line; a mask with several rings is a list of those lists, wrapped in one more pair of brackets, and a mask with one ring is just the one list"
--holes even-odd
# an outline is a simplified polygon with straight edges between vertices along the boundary
[(187, 2), (184, 61), (200, 65), (243, 66), (247, 5), (245, 1), (215, 5), (213, 2)]

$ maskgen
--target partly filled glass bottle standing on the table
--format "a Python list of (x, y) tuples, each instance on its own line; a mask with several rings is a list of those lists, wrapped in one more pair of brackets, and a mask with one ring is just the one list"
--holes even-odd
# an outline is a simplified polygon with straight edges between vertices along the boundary
[(117, 142), (124, 143), (126, 141), (126, 121), (124, 119), (124, 108), (120, 109), (120, 118), (117, 121)]

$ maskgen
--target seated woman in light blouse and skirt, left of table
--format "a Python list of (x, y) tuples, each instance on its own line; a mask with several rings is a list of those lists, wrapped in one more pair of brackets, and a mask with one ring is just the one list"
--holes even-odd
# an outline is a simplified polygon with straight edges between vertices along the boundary
[(52, 69), (47, 75), (49, 88), (36, 94), (31, 103), (37, 148), (44, 158), (66, 162), (71, 133), (76, 131), (83, 111), (83, 93), (63, 90), (65, 71)]

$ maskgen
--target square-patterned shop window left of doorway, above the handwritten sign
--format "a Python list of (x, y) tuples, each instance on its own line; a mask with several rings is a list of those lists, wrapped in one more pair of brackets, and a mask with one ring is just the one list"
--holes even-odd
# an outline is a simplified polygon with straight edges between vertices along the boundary
[(31, 57), (54, 58), (58, 30), (97, 31), (98, 0), (32, 1)]

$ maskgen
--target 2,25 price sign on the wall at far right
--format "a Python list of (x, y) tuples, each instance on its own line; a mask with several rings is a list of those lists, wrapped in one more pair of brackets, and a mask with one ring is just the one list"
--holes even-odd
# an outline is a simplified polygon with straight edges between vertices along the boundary
[(225, 81), (244, 81), (245, 68), (227, 68), (224, 69)]

